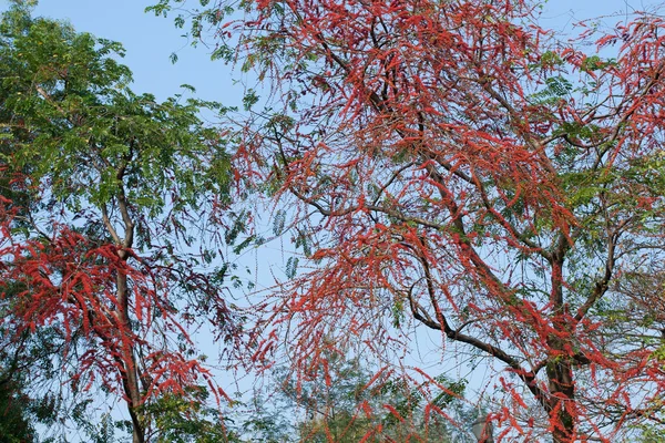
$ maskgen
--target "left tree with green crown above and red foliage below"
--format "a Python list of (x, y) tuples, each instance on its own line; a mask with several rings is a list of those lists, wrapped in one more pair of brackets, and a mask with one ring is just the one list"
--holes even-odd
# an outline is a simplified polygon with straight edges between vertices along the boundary
[[(224, 109), (135, 94), (122, 45), (34, 19), (28, 3), (0, 23), (0, 350), (27, 357), (27, 337), (49, 337), (38, 360), (73, 395), (113, 393), (134, 443), (166, 441), (152, 411), (177, 395), (195, 416), (224, 396), (188, 327), (208, 319), (219, 339), (241, 337), (229, 267), (211, 265), (224, 261), (228, 155), (200, 116)], [(24, 370), (33, 384), (49, 377)]]

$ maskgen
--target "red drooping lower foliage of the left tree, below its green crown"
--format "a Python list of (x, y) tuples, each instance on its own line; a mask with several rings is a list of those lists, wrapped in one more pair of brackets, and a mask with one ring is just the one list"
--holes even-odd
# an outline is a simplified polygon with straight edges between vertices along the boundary
[[(74, 368), (69, 381), (85, 390), (96, 381), (124, 395), (126, 372), (137, 370), (143, 401), (164, 392), (185, 395), (202, 379), (215, 396), (224, 395), (201, 361), (170, 342), (170, 334), (187, 342), (188, 336), (160, 285), (164, 276), (142, 266), (132, 250), (123, 259), (117, 246), (94, 244), (66, 226), (53, 225), (49, 238), (23, 238), (13, 229), (17, 208), (10, 205), (0, 197), (0, 321), (14, 334), (3, 340), (45, 327), (58, 331), (66, 343), (59, 357)], [(119, 276), (130, 282), (126, 306), (117, 299)]]

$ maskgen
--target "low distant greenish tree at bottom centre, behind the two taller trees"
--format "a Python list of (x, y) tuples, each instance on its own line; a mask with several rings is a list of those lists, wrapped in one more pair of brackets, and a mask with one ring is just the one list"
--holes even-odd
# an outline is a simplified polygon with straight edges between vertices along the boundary
[[(399, 377), (378, 378), (360, 360), (327, 356), (325, 377), (311, 381), (285, 379), (282, 392), (303, 408), (309, 419), (299, 423), (300, 442), (471, 442), (470, 413), (461, 401), (464, 382), (436, 378), (444, 387), (423, 383), (412, 389)], [(325, 368), (320, 368), (325, 370)], [(458, 419), (461, 432), (440, 416), (427, 416), (423, 391), (432, 390), (432, 404)], [(427, 416), (427, 419), (426, 419)], [(467, 426), (464, 430), (463, 427)], [(466, 431), (466, 432), (464, 432)], [(295, 439), (291, 439), (295, 440)]]

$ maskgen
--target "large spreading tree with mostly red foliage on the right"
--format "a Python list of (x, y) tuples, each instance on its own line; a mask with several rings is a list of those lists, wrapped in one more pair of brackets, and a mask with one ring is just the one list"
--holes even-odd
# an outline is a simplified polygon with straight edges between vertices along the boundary
[(349, 341), (385, 357), (417, 324), (495, 362), (498, 440), (662, 426), (658, 14), (562, 42), (528, 0), (232, 7), (192, 32), (270, 82), (237, 165), (317, 265), (265, 308), (256, 359), (284, 337), (303, 373)]

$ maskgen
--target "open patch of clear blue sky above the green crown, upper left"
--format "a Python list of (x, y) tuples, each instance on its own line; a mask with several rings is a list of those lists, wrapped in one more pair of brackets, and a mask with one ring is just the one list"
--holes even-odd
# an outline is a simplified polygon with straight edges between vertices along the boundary
[[(0, 9), (7, 9), (8, 3), (0, 0)], [(134, 72), (135, 92), (150, 92), (163, 100), (181, 92), (180, 85), (187, 83), (196, 87), (201, 99), (239, 104), (242, 86), (234, 91), (231, 69), (222, 62), (212, 62), (211, 50), (205, 47), (191, 48), (172, 18), (144, 13), (151, 3), (151, 0), (40, 0), (35, 14), (69, 20), (76, 31), (121, 42), (126, 49), (123, 63)], [(176, 64), (170, 61), (172, 52), (178, 55)]]

